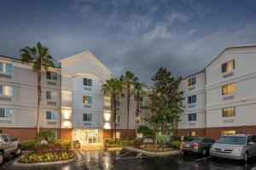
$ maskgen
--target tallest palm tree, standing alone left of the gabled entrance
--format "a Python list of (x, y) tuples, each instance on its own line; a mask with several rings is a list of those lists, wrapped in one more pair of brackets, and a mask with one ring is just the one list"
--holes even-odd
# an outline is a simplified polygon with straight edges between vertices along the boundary
[(37, 141), (39, 133), (39, 113), (40, 104), (42, 101), (41, 94), (41, 74), (42, 68), (47, 70), (49, 67), (54, 67), (53, 58), (48, 54), (49, 49), (44, 47), (40, 42), (35, 47), (25, 47), (20, 49), (21, 61), (23, 63), (32, 63), (33, 71), (38, 74), (38, 117), (37, 117)]

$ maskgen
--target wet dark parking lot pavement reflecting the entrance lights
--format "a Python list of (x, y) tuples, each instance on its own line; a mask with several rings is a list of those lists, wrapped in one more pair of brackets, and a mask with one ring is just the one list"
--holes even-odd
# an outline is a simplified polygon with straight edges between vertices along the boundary
[[(11, 167), (10, 163), (3, 165), (2, 169), (19, 169)], [(24, 169), (24, 168), (22, 168)], [(243, 161), (230, 161), (216, 159), (210, 156), (202, 157), (196, 155), (179, 156), (144, 156), (137, 152), (122, 151), (80, 151), (79, 160), (68, 165), (55, 167), (37, 167), (26, 169), (187, 169), (187, 170), (256, 170), (256, 158)]]

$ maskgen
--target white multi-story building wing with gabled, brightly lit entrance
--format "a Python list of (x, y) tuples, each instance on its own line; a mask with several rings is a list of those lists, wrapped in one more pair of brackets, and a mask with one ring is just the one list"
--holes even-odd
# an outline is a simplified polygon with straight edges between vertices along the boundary
[[(111, 99), (102, 94), (102, 84), (111, 77), (112, 72), (89, 51), (61, 59), (58, 68), (43, 71), (40, 128), (55, 131), (58, 139), (102, 145), (103, 138), (112, 136)], [(0, 57), (0, 132), (34, 139), (37, 83), (32, 64)], [(127, 100), (119, 97), (117, 103), (117, 137), (135, 137), (142, 123), (136, 123), (136, 101), (131, 96), (128, 129)], [(139, 116), (149, 116), (148, 111), (141, 110)]]

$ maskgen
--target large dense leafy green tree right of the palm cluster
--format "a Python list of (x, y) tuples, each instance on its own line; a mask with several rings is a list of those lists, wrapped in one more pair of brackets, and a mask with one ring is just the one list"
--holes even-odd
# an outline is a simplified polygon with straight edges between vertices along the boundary
[(177, 128), (179, 116), (183, 112), (183, 92), (179, 90), (181, 77), (173, 77), (166, 68), (160, 68), (154, 77), (152, 94), (149, 94), (148, 108), (154, 112), (147, 121), (160, 128), (165, 134)]

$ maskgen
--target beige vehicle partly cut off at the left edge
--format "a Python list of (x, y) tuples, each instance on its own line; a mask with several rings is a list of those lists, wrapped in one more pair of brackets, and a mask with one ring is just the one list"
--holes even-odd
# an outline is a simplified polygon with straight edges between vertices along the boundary
[(5, 156), (20, 156), (22, 150), (20, 141), (8, 134), (0, 133), (0, 164), (3, 163)]

